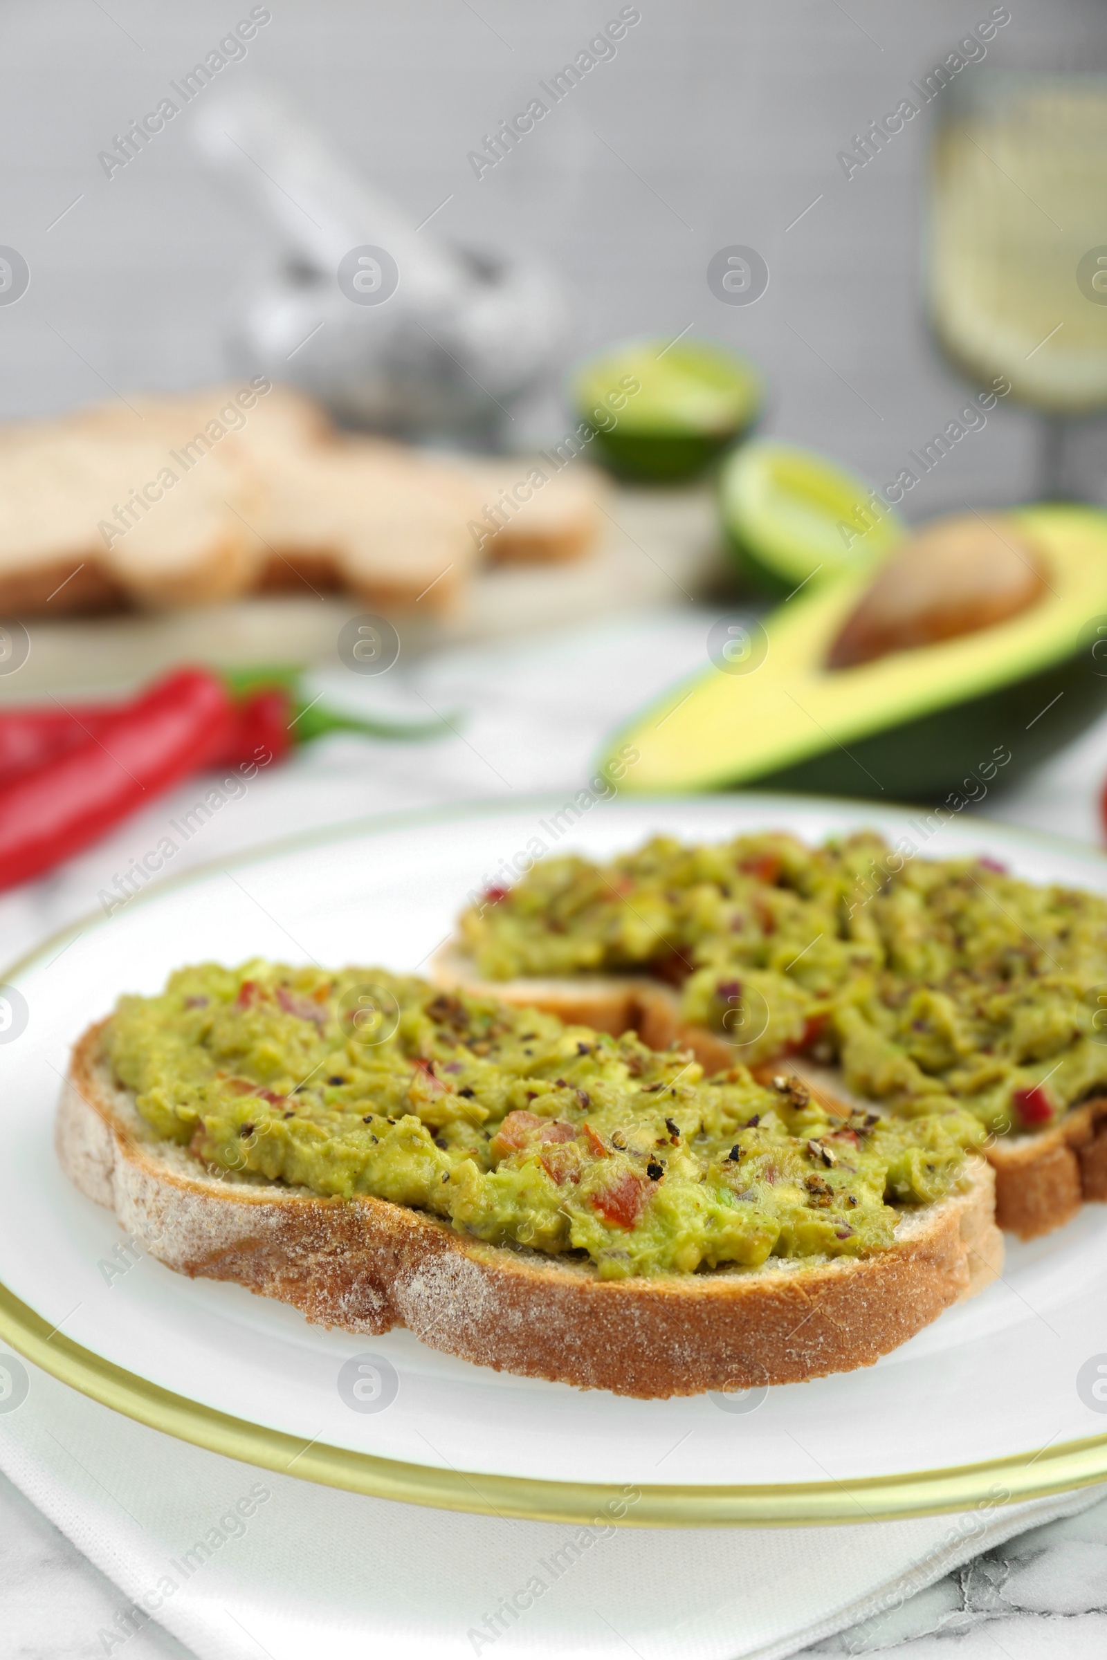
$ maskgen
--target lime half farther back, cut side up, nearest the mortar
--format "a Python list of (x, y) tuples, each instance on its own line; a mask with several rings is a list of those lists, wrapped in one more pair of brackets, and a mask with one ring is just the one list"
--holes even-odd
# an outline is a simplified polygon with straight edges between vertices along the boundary
[(569, 390), (597, 458), (644, 483), (695, 478), (753, 425), (765, 397), (749, 357), (714, 340), (664, 337), (589, 359)]

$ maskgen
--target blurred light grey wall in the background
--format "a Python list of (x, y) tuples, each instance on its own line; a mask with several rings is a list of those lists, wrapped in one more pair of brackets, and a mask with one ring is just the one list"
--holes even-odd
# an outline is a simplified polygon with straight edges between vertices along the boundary
[[(1102, 0), (1009, 8), (988, 61), (1107, 66)], [(271, 10), (224, 78), (277, 88), (415, 219), (453, 191), (435, 221), (445, 234), (554, 261), (573, 287), (581, 350), (692, 324), (760, 360), (773, 385), (768, 430), (881, 480), (956, 412), (966, 388), (919, 312), (928, 116), (851, 181), (835, 156), (988, 17), (989, 0), (850, 0), (848, 10), (642, 0), (617, 56), (480, 181), (466, 153), (619, 0), (272, 0)], [(0, 309), (0, 415), (224, 370), (236, 287), (267, 257), (271, 231), (206, 171), (189, 141), (193, 110), (111, 181), (96, 154), (247, 13), (249, 0), (3, 7), (0, 242), (25, 254), (32, 286)], [(707, 289), (707, 261), (730, 242), (768, 261), (757, 305), (722, 305)], [(1102, 430), (1084, 443), (1095, 456)], [(1036, 458), (1034, 420), (999, 408), (908, 506), (928, 515), (968, 490), (978, 501), (1032, 495)]]

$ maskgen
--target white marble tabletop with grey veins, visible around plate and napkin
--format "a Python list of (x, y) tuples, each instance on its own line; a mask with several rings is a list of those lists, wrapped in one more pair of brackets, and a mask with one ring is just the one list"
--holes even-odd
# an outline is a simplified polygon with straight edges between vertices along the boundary
[[(330, 739), (229, 802), (176, 868), (314, 825), (485, 795), (579, 788), (602, 732), (661, 686), (704, 661), (714, 614), (682, 609), (602, 624), (523, 646), (456, 651), (388, 686), (330, 684), (347, 702), (417, 712), (427, 702), (466, 714), (461, 735), (433, 745)], [(1102, 842), (1099, 788), (1107, 777), (1107, 719), (983, 810), (996, 818)], [(88, 855), (0, 896), (0, 953), (13, 961), (85, 915), (159, 825), (196, 798), (196, 785), (148, 808)], [(863, 808), (861, 808), (863, 813)], [(123, 1594), (0, 1477), (0, 1660), (85, 1660)], [(1107, 1499), (1039, 1526), (919, 1592), (901, 1609), (807, 1653), (880, 1653), (911, 1660), (1100, 1660), (1107, 1653)], [(128, 1660), (184, 1657), (149, 1623)], [(647, 1657), (644, 1657), (647, 1660)]]

